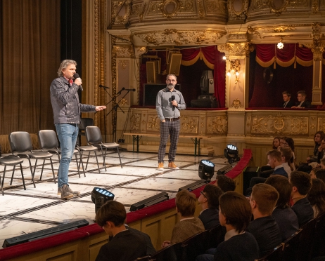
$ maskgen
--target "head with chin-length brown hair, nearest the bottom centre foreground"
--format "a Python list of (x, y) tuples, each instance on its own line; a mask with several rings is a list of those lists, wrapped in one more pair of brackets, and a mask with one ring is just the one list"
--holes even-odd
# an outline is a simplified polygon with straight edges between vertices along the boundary
[(252, 212), (245, 196), (238, 192), (225, 192), (219, 198), (220, 225), (231, 225), (237, 232), (246, 230)]

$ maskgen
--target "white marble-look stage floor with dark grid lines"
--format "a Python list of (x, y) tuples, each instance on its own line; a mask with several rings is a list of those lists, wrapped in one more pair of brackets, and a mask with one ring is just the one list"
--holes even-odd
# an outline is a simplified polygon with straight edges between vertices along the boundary
[[(15, 170), (13, 185), (10, 186), (12, 168), (8, 168), (4, 180), (4, 196), (0, 194), (0, 248), (5, 239), (14, 236), (37, 232), (42, 229), (55, 227), (68, 222), (86, 219), (89, 224), (94, 223), (95, 205), (91, 201), (91, 191), (94, 187), (103, 187), (115, 194), (115, 201), (129, 207), (138, 201), (154, 196), (160, 192), (167, 192), (174, 198), (179, 187), (200, 180), (198, 177), (198, 163), (201, 159), (208, 159), (215, 163), (215, 171), (227, 165), (227, 160), (220, 156), (189, 156), (177, 155), (175, 163), (179, 170), (157, 170), (157, 154), (120, 152), (123, 168), (120, 167), (117, 153), (106, 156), (106, 166), (98, 173), (96, 160), (89, 160), (86, 177), (77, 173), (75, 162), (70, 164), (69, 183), (73, 190), (81, 194), (69, 200), (61, 200), (57, 196), (57, 184), (53, 182), (51, 165), (46, 163), (42, 180), (39, 176), (42, 170), (42, 161), (39, 162), (35, 179), (36, 188), (31, 182), (30, 168), (27, 159), (24, 159), (23, 170), (26, 190), (19, 168)], [(53, 156), (53, 159), (57, 159)], [(84, 158), (86, 161), (86, 158)], [(99, 163), (103, 163), (98, 157)], [(165, 165), (167, 156), (165, 157)], [(33, 161), (32, 161), (33, 163)], [(100, 165), (101, 167), (101, 165)], [(58, 170), (58, 161), (53, 162), (55, 173)], [(1, 177), (4, 166), (0, 166)], [(215, 180), (215, 177), (212, 178)]]

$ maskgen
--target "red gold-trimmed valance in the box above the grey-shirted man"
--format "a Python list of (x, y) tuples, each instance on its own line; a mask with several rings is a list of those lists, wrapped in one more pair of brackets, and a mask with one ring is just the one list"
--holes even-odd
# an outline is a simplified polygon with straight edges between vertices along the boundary
[(215, 46), (181, 50), (181, 65), (191, 66), (198, 59), (203, 60), (210, 69), (215, 69)]

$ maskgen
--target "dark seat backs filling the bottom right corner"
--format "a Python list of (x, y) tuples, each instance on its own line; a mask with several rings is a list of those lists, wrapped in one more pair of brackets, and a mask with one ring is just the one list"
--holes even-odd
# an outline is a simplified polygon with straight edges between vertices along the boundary
[(300, 227), (290, 238), (257, 261), (309, 261), (325, 255), (325, 213)]

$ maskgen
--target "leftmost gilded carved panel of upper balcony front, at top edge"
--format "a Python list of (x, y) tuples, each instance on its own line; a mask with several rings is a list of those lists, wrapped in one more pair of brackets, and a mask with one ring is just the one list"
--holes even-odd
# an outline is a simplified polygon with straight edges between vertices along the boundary
[[(111, 23), (113, 25), (126, 24), (129, 21), (132, 0), (112, 1), (111, 3)], [(124, 13), (124, 15), (120, 15), (120, 13)]]

